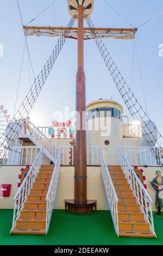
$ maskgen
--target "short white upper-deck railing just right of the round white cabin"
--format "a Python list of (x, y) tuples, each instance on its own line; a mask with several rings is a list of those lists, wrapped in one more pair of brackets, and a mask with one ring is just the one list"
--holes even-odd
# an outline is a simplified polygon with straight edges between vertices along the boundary
[(142, 137), (141, 126), (140, 125), (131, 125), (123, 124), (122, 125), (122, 136), (124, 138), (140, 138)]

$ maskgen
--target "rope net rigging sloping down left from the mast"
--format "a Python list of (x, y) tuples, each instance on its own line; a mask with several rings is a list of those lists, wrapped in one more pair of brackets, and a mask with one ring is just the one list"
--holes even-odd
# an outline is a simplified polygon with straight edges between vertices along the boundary
[(29, 92), (23, 100), (20, 108), (18, 108), (16, 114), (11, 120), (11, 123), (8, 125), (7, 129), (0, 137), (2, 142), (0, 144), (0, 167), (3, 165), (4, 160), (8, 156), (9, 150), (16, 141), (17, 136), (24, 125), (24, 121), (32, 110), (34, 103), (36, 102), (37, 97), (39, 96), (41, 89), (45, 84), (50, 71), (53, 68), (54, 63), (57, 60), (57, 57), (59, 56), (59, 53), (65, 44), (67, 34), (70, 32), (70, 29), (74, 25), (75, 16), (76, 14), (74, 14), (74, 16), (71, 18), (66, 30), (63, 31), (62, 37), (58, 39), (57, 45), (55, 46), (51, 56), (48, 58), (46, 64), (43, 66), (40, 74), (35, 78), (34, 83), (32, 87), (30, 87)]

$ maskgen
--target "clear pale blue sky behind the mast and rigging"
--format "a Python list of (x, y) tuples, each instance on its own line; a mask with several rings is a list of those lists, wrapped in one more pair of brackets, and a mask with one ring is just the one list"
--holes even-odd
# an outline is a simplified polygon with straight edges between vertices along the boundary
[[(122, 16), (135, 27), (151, 19), (163, 11), (162, 0), (106, 0)], [(26, 24), (39, 14), (52, 0), (19, 0), (23, 23)], [(55, 4), (56, 20), (53, 7), (31, 23), (32, 26), (66, 26), (70, 20), (67, 11), (67, 0), (58, 0)], [(0, 15), (21, 23), (16, 0), (0, 0)], [(103, 0), (95, 0), (95, 8), (91, 19), (96, 27), (130, 27), (122, 17), (118, 16)], [(57, 23), (56, 23), (57, 21)], [(159, 57), (159, 44), (163, 44), (163, 15), (159, 16), (136, 34), (136, 44), (139, 51), (142, 78), (145, 87), (149, 117), (155, 121), (159, 130), (162, 127), (162, 80), (163, 57)], [(85, 25), (86, 26), (86, 25)], [(27, 38), (29, 51), (34, 66), (35, 76), (45, 64), (56, 38), (29, 37)], [(24, 45), (24, 34), (21, 26), (0, 17), (0, 44), (4, 47), (4, 57), (0, 57), (0, 105), (4, 105), (12, 115), (16, 99), (18, 76)], [(129, 83), (134, 40), (105, 40), (105, 45), (115, 60), (123, 77)], [(69, 106), (75, 109), (75, 82), (77, 71), (77, 41), (68, 40), (62, 49), (57, 62), (42, 92), (37, 100), (34, 112), (30, 115), (36, 125), (51, 125), (54, 111)], [(109, 71), (98, 52), (93, 40), (85, 41), (85, 73), (86, 73), (86, 101), (99, 98), (110, 98), (122, 103)], [(32, 78), (33, 80), (33, 78)], [(23, 69), (18, 93), (17, 107), (26, 96), (30, 87), (27, 51), (24, 56)], [(133, 92), (145, 106), (140, 80), (140, 72), (135, 58)], [(124, 108), (126, 109), (126, 108)]]

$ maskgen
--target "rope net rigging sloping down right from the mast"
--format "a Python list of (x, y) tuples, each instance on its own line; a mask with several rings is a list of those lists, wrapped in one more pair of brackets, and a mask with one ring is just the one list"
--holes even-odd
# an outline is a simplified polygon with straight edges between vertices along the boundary
[(101, 56), (106, 64), (106, 67), (108, 68), (110, 75), (114, 80), (116, 87), (128, 108), (129, 113), (131, 114), (131, 117), (135, 121), (141, 121), (140, 133), (143, 139), (145, 139), (145, 142), (148, 145), (149, 149), (151, 150), (153, 156), (155, 157), (156, 162), (160, 166), (162, 166), (163, 148), (159, 143), (160, 139), (163, 139), (161, 133), (158, 131), (158, 129), (156, 128), (155, 124), (151, 121), (151, 119), (149, 119), (148, 114), (144, 111), (139, 101), (137, 101), (136, 97), (131, 92), (129, 86), (124, 81), (124, 78), (118, 70), (114, 60), (112, 59), (110, 53), (106, 49), (103, 40), (98, 37), (98, 34), (95, 30), (95, 26), (93, 25), (93, 22), (90, 19), (90, 17), (87, 19), (87, 25), (91, 29), (91, 33), (93, 35), (93, 38), (95, 39), (99, 52), (101, 53)]

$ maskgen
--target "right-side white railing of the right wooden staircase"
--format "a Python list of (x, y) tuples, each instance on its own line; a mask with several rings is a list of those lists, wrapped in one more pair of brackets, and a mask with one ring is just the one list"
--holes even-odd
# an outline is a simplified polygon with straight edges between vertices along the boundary
[(147, 190), (142, 185), (140, 179), (134, 172), (134, 169), (131, 167), (126, 156), (123, 154), (122, 149), (118, 147), (120, 164), (125, 174), (128, 184), (130, 185), (131, 190), (133, 190), (134, 196), (136, 197), (137, 203), (140, 204), (141, 211), (145, 214), (145, 220), (149, 223), (150, 230), (153, 234), (154, 223), (153, 223), (153, 214), (152, 214), (152, 199), (149, 196)]

